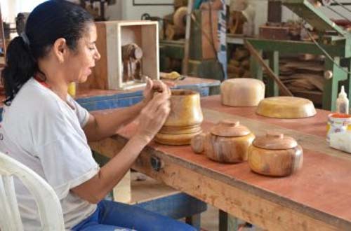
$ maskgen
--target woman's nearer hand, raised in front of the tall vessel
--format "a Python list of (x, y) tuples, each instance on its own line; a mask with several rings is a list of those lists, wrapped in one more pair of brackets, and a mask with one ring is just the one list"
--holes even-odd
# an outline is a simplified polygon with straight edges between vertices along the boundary
[(171, 91), (168, 87), (163, 92), (157, 92), (140, 113), (138, 130), (135, 136), (149, 143), (159, 132), (171, 111), (169, 98)]

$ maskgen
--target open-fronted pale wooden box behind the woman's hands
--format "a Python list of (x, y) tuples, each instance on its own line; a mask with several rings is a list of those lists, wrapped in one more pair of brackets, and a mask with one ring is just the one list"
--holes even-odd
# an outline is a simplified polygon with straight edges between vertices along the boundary
[(96, 43), (101, 59), (96, 62), (92, 75), (82, 88), (124, 90), (145, 85), (143, 81), (124, 81), (122, 46), (135, 43), (143, 50), (141, 73), (159, 79), (159, 34), (157, 22), (152, 21), (107, 21), (96, 22)]

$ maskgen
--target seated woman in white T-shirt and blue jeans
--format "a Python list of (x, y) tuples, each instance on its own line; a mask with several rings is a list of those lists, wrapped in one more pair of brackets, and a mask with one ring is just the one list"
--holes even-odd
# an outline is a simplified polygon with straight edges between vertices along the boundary
[[(93, 18), (80, 6), (46, 1), (32, 11), (25, 33), (8, 45), (0, 151), (53, 187), (69, 230), (193, 230), (171, 218), (103, 200), (163, 125), (170, 91), (147, 80), (143, 102), (105, 115), (89, 114), (68, 96), (67, 85), (86, 81), (100, 59), (96, 39)], [(161, 93), (152, 97), (154, 90)], [(99, 168), (87, 141), (110, 137), (136, 116), (143, 123), (135, 135)], [(16, 193), (25, 230), (39, 230), (33, 197), (18, 182)]]

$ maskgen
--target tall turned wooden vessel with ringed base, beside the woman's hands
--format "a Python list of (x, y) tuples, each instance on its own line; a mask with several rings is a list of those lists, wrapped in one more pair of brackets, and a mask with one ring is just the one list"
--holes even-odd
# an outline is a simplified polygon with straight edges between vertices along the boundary
[(172, 90), (171, 112), (155, 136), (155, 141), (168, 145), (190, 144), (192, 137), (201, 133), (204, 120), (200, 94), (192, 90)]

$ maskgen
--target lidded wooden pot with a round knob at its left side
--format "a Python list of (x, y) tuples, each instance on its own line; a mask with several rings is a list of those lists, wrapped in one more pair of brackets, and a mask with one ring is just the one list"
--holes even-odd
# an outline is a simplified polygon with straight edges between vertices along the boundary
[(216, 162), (243, 162), (247, 160), (253, 139), (253, 133), (239, 121), (222, 120), (209, 133), (194, 137), (192, 150), (194, 153), (204, 150), (205, 155)]

